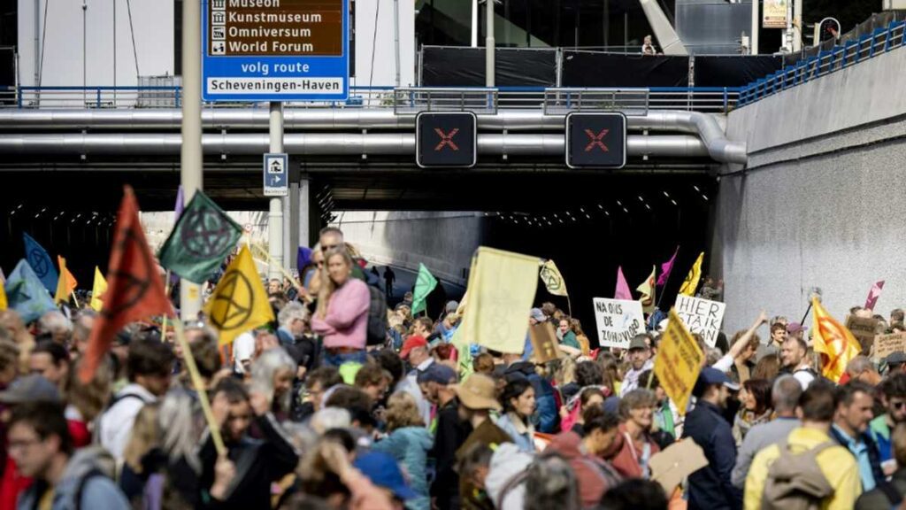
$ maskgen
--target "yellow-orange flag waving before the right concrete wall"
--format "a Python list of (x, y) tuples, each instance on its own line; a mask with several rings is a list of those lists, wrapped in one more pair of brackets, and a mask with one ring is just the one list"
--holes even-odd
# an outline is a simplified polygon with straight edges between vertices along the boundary
[(849, 329), (827, 313), (817, 298), (812, 298), (812, 317), (812, 342), (814, 352), (821, 353), (821, 372), (825, 378), (840, 382), (846, 365), (862, 352), (862, 345)]

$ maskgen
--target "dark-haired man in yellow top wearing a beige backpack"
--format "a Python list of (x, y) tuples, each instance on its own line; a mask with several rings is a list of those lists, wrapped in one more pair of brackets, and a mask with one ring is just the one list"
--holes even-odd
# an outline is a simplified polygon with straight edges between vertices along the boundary
[[(835, 400), (834, 387), (824, 382), (805, 390), (799, 399), (802, 427), (778, 444), (767, 446), (752, 461), (746, 478), (746, 510), (760, 510), (765, 499), (775, 508), (785, 507), (785, 495), (789, 498), (786, 505), (853, 508), (862, 494), (859, 466), (830, 435)], [(808, 492), (791, 490), (797, 486), (812, 488)]]

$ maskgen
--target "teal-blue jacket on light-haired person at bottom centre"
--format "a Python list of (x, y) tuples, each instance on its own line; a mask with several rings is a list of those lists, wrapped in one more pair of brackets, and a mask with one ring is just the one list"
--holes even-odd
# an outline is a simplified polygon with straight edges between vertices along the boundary
[(371, 449), (390, 454), (406, 468), (410, 485), (419, 497), (406, 503), (411, 510), (429, 510), (431, 499), (428, 492), (428, 452), (434, 446), (434, 437), (425, 427), (403, 427), (390, 433)]

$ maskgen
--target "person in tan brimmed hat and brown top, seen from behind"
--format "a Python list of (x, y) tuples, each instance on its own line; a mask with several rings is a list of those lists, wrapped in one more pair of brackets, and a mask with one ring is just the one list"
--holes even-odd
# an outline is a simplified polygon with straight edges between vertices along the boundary
[[(459, 418), (472, 427), (471, 434), (456, 451), (457, 461), (462, 461), (476, 445), (496, 446), (513, 440), (491, 419), (491, 411), (500, 411), (496, 399), (494, 379), (472, 374), (462, 384), (455, 386), (459, 398)], [(459, 479), (459, 499), (463, 507), (477, 506), (476, 486), (466, 477)]]

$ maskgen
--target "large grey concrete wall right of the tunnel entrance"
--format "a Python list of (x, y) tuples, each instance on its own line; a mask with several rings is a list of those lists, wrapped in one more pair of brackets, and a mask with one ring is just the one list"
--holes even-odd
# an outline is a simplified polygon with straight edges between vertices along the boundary
[(723, 169), (715, 207), (725, 331), (762, 308), (802, 319), (812, 287), (838, 319), (877, 280), (876, 311), (906, 305), (904, 67), (898, 48), (730, 113), (728, 137), (747, 141), (749, 164)]

